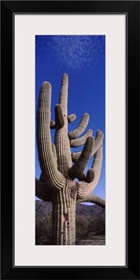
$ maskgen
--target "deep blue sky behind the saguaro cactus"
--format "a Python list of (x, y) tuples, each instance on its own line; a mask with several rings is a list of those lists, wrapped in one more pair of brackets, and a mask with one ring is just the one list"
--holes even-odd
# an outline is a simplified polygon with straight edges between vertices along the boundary
[[(104, 133), (102, 173), (93, 193), (105, 198), (105, 36), (36, 36), (36, 109), (41, 83), (48, 80), (52, 85), (52, 120), (55, 120), (63, 73), (69, 76), (68, 115), (76, 114), (76, 120), (69, 124), (69, 132), (77, 127), (84, 113), (89, 113), (85, 132), (92, 129), (94, 137), (97, 130)], [(51, 130), (52, 143), (54, 133)], [(82, 149), (80, 146), (71, 151)], [(36, 147), (36, 178), (40, 174)]]

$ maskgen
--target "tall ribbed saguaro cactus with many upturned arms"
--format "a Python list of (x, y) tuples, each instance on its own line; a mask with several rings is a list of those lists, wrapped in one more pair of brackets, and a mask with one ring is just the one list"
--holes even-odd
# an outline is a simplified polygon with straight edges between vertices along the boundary
[[(68, 76), (64, 73), (55, 106), (55, 121), (50, 118), (51, 85), (44, 82), (38, 97), (37, 146), (41, 166), (40, 179), (36, 179), (36, 196), (52, 201), (52, 244), (74, 245), (76, 241), (76, 203), (93, 202), (105, 207), (102, 198), (92, 195), (97, 186), (102, 167), (103, 133), (96, 138), (92, 130), (77, 138), (87, 127), (89, 115), (85, 113), (78, 127), (68, 133), (68, 123), (76, 115), (67, 116)], [(55, 141), (51, 143), (50, 129), (55, 129)], [(71, 153), (70, 147), (84, 145), (81, 153)], [(94, 155), (92, 167), (85, 176), (88, 160)], [(73, 165), (72, 165), (73, 162)], [(75, 179), (78, 179), (76, 181)]]

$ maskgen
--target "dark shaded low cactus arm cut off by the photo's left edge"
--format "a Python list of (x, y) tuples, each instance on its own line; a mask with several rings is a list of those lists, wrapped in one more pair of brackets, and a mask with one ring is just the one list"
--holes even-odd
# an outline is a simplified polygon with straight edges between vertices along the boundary
[(52, 201), (52, 195), (50, 188), (43, 182), (36, 179), (36, 197), (45, 202)]

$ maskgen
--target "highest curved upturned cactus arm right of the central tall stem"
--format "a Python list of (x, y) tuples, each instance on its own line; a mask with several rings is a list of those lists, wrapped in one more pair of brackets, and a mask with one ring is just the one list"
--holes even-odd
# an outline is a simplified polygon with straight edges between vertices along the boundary
[(85, 128), (87, 127), (88, 121), (89, 121), (89, 114), (85, 113), (83, 115), (83, 118), (80, 120), (80, 123), (78, 125), (78, 127), (76, 127), (75, 130), (72, 130), (71, 132), (69, 132), (69, 139), (76, 139), (77, 137), (80, 136), (80, 134), (82, 134), (85, 130)]

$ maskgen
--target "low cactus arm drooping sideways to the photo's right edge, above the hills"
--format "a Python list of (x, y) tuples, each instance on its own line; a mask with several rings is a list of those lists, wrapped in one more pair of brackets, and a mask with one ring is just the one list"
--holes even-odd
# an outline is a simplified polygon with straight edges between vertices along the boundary
[(81, 203), (81, 202), (92, 202), (94, 204), (99, 205), (100, 207), (102, 207), (104, 209), (105, 209), (105, 204), (106, 204), (106, 201), (103, 200), (102, 197), (98, 197), (97, 195), (92, 195), (92, 193), (90, 193), (86, 197), (76, 200), (76, 204)]

